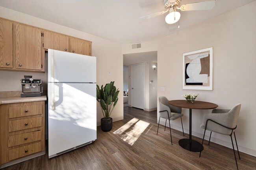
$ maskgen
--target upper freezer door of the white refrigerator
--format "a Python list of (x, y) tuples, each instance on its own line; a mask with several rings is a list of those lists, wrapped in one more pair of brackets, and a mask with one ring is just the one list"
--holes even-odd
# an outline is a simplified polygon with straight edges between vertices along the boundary
[(96, 57), (48, 49), (48, 82), (96, 82)]

